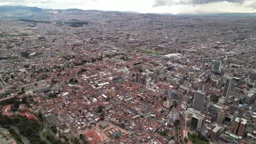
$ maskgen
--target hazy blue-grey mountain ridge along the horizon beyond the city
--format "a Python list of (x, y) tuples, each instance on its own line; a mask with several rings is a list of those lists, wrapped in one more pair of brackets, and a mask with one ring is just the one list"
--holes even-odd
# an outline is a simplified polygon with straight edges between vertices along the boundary
[[(154, 16), (215, 16), (215, 17), (256, 17), (256, 13), (222, 13), (222, 14), (154, 14)], [(42, 9), (38, 7), (0, 5), (0, 20), (88, 20), (98, 19), (99, 17), (110, 18), (113, 16), (123, 17), (147, 17), (152, 14), (140, 14), (134, 11), (101, 11), (101, 10), (82, 10), (82, 9)]]

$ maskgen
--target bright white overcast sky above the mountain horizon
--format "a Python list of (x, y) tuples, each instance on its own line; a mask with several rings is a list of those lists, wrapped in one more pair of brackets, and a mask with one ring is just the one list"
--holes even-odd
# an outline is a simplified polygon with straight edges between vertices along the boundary
[(0, 5), (171, 14), (256, 12), (256, 0), (0, 0)]

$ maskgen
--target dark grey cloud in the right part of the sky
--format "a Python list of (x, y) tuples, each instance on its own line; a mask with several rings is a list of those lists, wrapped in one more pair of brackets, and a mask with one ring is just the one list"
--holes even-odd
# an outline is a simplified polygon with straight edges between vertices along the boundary
[(246, 0), (154, 0), (153, 7), (164, 5), (179, 5), (179, 4), (208, 4), (215, 2), (230, 2), (243, 4)]

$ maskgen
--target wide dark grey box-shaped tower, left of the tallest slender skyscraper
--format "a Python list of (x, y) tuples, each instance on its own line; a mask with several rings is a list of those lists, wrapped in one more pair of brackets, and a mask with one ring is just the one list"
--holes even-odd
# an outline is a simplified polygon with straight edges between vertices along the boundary
[(202, 93), (201, 91), (196, 91), (193, 99), (193, 109), (197, 111), (202, 111), (204, 102), (205, 93)]

